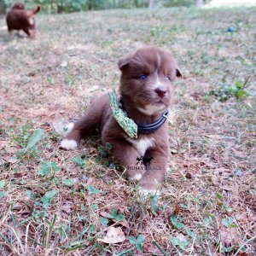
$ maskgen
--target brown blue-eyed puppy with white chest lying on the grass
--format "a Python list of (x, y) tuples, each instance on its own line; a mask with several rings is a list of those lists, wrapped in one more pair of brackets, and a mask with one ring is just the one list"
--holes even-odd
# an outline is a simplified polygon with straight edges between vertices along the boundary
[(160, 192), (170, 154), (166, 110), (174, 98), (173, 81), (181, 73), (172, 55), (154, 46), (138, 49), (121, 58), (118, 65), (121, 108), (137, 123), (138, 137), (129, 137), (119, 126), (108, 95), (103, 95), (71, 127), (61, 148), (76, 148), (82, 137), (99, 127), (102, 143), (112, 145), (111, 153), (126, 167), (127, 177), (138, 180), (144, 194)]

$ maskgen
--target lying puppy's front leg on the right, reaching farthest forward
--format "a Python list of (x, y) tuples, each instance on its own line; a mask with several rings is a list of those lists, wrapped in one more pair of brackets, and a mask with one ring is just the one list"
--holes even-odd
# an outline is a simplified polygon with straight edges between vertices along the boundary
[(149, 193), (160, 195), (160, 187), (165, 181), (166, 169), (168, 166), (169, 148), (149, 149), (147, 155), (152, 159), (146, 163), (147, 171), (143, 174), (139, 184), (140, 191), (144, 195)]

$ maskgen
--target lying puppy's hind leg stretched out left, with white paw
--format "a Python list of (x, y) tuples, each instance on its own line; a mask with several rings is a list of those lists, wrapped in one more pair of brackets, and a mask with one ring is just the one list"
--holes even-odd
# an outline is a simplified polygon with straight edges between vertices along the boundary
[[(108, 96), (104, 95), (96, 99), (90, 104), (85, 111), (84, 116), (79, 121), (71, 124), (72, 129), (65, 139), (61, 141), (61, 148), (74, 149), (77, 148), (82, 137), (89, 135), (90, 131), (96, 129), (101, 123), (102, 113), (108, 104)], [(73, 127), (72, 127), (73, 126)]]

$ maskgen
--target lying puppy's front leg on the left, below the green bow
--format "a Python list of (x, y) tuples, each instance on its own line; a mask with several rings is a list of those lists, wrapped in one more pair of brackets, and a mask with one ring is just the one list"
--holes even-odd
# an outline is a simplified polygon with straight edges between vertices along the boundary
[(125, 166), (126, 177), (129, 180), (140, 180), (146, 171), (144, 165), (137, 165), (137, 158), (140, 157), (136, 148), (122, 139), (108, 140), (112, 145), (111, 154), (119, 165)]

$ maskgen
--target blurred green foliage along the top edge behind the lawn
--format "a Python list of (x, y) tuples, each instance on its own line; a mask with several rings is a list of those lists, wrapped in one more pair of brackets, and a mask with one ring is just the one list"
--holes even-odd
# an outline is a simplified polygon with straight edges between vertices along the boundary
[[(44, 13), (61, 14), (97, 9), (148, 8), (150, 0), (0, 0), (0, 13), (6, 13), (15, 2), (25, 3), (27, 9), (40, 4)], [(156, 7), (189, 7), (195, 4), (195, 0), (154, 0), (153, 3)]]

